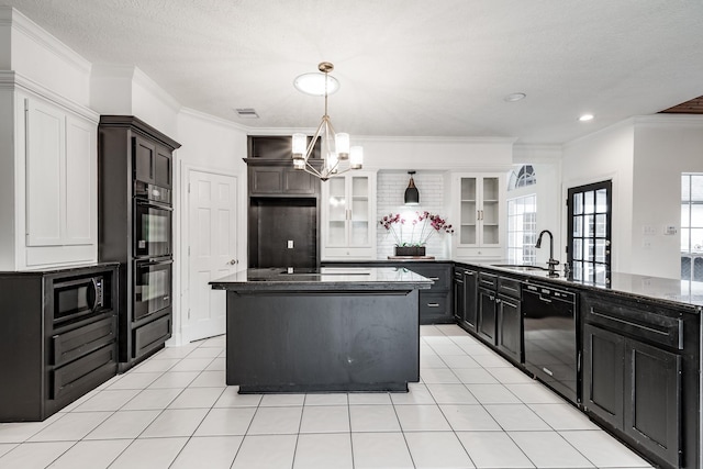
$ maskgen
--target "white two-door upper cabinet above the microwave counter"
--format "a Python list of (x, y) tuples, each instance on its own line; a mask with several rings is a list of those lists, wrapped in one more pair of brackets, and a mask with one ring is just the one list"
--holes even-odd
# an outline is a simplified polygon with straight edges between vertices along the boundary
[[(98, 115), (34, 93), (14, 92), (12, 212), (3, 220), (0, 267), (24, 270), (98, 259)], [(94, 120), (93, 120), (94, 118)], [(9, 180), (8, 180), (9, 181)]]

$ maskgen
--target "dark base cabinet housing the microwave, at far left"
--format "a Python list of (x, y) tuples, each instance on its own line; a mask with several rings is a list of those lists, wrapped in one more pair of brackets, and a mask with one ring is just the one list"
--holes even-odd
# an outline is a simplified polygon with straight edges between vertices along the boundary
[(0, 272), (0, 422), (43, 421), (116, 375), (118, 264)]

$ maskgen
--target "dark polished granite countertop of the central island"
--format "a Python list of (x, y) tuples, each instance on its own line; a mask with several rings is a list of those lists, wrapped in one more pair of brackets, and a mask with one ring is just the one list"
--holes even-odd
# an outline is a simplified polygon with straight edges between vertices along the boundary
[(216, 290), (413, 290), (433, 281), (405, 268), (323, 267), (321, 269), (243, 269), (210, 282)]

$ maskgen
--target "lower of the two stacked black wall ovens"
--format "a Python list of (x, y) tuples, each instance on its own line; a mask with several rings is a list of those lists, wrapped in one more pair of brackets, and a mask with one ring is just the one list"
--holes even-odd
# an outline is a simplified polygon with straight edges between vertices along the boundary
[(134, 321), (170, 308), (174, 260), (134, 260)]

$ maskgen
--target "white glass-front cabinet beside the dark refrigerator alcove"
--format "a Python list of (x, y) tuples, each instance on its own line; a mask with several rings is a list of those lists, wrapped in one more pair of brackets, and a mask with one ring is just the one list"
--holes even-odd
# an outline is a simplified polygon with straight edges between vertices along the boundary
[(322, 259), (376, 259), (376, 172), (322, 183)]

